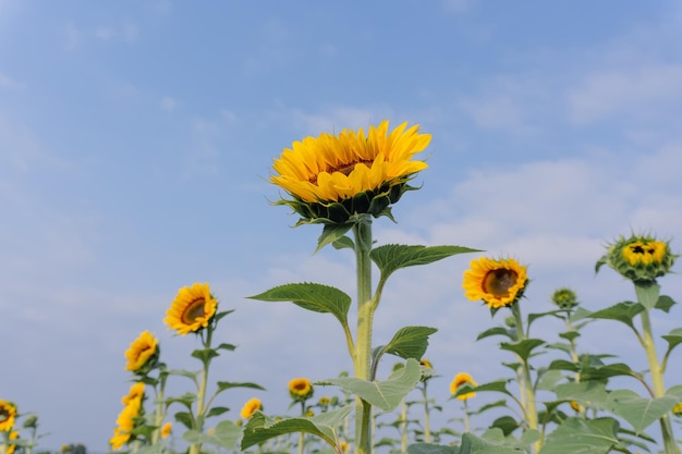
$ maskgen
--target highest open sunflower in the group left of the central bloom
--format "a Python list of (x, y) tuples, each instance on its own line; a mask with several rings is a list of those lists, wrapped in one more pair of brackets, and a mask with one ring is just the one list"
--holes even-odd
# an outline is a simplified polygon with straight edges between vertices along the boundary
[(198, 332), (208, 327), (218, 308), (218, 300), (210, 294), (208, 284), (194, 283), (182, 287), (166, 311), (163, 322), (178, 334)]

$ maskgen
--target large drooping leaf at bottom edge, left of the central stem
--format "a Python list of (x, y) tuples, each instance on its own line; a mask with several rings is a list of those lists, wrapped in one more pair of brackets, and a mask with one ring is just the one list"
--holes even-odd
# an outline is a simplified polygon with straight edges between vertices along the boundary
[(244, 451), (269, 439), (297, 432), (312, 433), (334, 446), (336, 428), (352, 409), (353, 406), (348, 405), (337, 410), (313, 416), (312, 418), (287, 418), (280, 420), (267, 417), (261, 412), (256, 412), (244, 426), (241, 449)]

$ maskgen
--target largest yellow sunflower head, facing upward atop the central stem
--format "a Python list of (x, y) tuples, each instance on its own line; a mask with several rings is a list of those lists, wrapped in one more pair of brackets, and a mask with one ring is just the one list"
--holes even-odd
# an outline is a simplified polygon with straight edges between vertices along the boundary
[(322, 133), (285, 148), (275, 159), (270, 182), (293, 200), (281, 200), (301, 214), (302, 221), (345, 223), (368, 213), (390, 216), (389, 205), (407, 189), (406, 183), (428, 165), (412, 157), (429, 144), (430, 134), (402, 123), (389, 133), (389, 122), (370, 126), (368, 134), (343, 130)]

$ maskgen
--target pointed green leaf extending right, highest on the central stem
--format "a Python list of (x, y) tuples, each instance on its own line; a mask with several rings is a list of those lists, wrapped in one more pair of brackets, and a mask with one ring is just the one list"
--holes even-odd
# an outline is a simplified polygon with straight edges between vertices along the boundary
[(477, 251), (479, 250), (463, 246), (405, 246), (387, 244), (372, 249), (369, 258), (377, 263), (377, 267), (379, 267), (381, 271), (381, 279), (386, 281), (391, 273), (401, 268), (428, 265), (456, 254)]

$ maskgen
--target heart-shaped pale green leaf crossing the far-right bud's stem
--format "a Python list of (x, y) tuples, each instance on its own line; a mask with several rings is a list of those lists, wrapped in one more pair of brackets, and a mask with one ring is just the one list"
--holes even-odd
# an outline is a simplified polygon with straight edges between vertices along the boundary
[(678, 402), (679, 400), (672, 395), (644, 398), (630, 390), (612, 391), (608, 397), (611, 412), (630, 422), (636, 433), (641, 433), (663, 415), (670, 413)]

